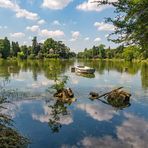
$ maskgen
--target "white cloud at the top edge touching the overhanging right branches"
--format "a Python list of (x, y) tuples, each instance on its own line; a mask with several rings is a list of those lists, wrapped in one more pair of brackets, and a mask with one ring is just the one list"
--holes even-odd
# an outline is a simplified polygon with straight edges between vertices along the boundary
[(88, 0), (78, 5), (76, 8), (83, 11), (102, 11), (110, 6), (97, 6), (94, 0)]

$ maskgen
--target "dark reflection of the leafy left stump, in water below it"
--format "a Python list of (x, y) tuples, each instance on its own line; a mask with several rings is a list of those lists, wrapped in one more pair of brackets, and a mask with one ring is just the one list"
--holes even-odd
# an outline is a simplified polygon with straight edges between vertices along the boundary
[(62, 127), (60, 118), (70, 115), (70, 112), (67, 110), (68, 105), (70, 104), (57, 100), (55, 104), (49, 106), (51, 108), (51, 114), (48, 125), (53, 133), (58, 133)]

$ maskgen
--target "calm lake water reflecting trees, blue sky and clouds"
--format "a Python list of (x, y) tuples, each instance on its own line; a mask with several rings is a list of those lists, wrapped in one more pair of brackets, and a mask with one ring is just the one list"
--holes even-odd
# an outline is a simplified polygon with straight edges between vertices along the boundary
[[(96, 69), (95, 75), (71, 73), (74, 65)], [(63, 104), (48, 91), (58, 76), (69, 77), (77, 99)], [(148, 65), (101, 61), (0, 61), (0, 85), (13, 103), (7, 113), (27, 136), (30, 148), (147, 148)], [(89, 100), (123, 86), (132, 94), (130, 105), (115, 108)]]

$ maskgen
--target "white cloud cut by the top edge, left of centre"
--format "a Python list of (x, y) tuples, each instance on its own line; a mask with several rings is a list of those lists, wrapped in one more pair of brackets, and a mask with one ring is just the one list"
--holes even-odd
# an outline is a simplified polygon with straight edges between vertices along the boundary
[(43, 0), (42, 7), (58, 10), (65, 8), (72, 1), (73, 0)]

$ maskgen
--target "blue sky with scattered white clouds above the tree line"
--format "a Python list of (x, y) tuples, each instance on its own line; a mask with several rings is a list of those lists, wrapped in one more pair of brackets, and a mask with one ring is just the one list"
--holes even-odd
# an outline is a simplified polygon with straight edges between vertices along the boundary
[[(105, 18), (115, 17), (111, 6), (95, 0), (0, 0), (0, 38), (31, 45), (51, 37), (79, 52), (93, 45), (116, 47), (107, 40), (114, 26)], [(115, 0), (110, 0), (115, 1)]]

